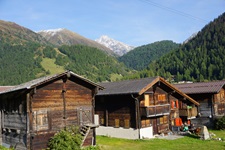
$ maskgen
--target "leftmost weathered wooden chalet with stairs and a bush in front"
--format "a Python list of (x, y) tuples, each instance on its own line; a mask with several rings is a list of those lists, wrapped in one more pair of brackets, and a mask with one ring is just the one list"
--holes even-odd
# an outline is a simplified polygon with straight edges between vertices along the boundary
[(101, 86), (71, 71), (0, 88), (0, 143), (45, 149), (66, 126), (86, 128), (83, 146), (95, 145), (94, 101)]

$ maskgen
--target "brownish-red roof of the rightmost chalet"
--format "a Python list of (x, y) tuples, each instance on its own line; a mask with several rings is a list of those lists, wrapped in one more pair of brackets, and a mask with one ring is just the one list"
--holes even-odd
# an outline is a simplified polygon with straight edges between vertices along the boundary
[(196, 82), (196, 83), (182, 83), (174, 84), (179, 90), (186, 94), (200, 94), (200, 93), (218, 93), (225, 81), (212, 81), (212, 82)]

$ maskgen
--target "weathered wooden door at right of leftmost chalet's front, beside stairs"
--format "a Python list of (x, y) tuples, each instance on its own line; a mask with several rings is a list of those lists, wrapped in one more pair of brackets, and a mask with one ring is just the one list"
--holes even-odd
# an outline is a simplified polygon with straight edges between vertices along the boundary
[(92, 107), (80, 107), (78, 108), (78, 118), (79, 118), (79, 125), (85, 125), (93, 123), (93, 111)]

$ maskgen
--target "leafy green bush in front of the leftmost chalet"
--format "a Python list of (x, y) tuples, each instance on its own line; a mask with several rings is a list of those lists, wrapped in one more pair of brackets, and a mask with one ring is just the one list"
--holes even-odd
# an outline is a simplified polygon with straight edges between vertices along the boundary
[(48, 148), (51, 150), (79, 150), (81, 142), (82, 136), (79, 128), (71, 126), (55, 134), (49, 141)]

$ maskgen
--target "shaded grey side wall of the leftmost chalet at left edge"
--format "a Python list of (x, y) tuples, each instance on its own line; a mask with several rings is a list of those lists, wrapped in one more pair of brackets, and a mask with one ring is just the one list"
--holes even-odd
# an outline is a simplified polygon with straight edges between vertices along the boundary
[(0, 141), (12, 146), (20, 143), (26, 148), (26, 105), (22, 93), (10, 93), (0, 97)]

